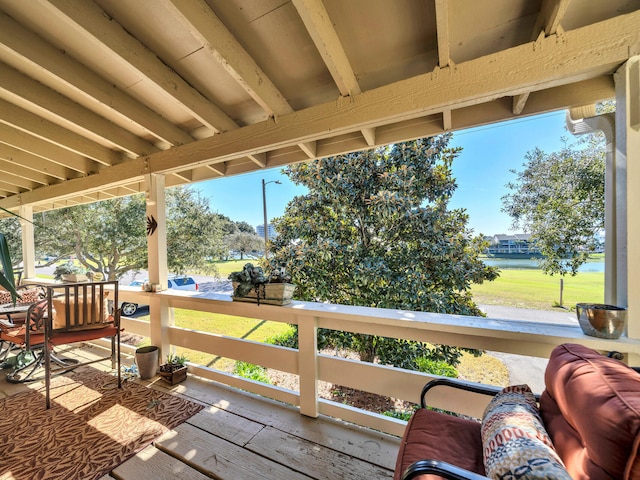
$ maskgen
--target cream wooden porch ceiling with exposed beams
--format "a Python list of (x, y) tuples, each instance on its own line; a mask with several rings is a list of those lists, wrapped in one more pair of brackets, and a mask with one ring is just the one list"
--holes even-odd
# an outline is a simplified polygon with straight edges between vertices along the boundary
[(0, 206), (612, 98), (640, 0), (0, 0)]

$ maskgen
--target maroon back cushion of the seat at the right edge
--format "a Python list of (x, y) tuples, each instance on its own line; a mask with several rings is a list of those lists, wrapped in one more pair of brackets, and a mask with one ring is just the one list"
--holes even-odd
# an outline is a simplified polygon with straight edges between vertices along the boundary
[(574, 480), (640, 478), (640, 375), (582, 345), (556, 347), (540, 414)]

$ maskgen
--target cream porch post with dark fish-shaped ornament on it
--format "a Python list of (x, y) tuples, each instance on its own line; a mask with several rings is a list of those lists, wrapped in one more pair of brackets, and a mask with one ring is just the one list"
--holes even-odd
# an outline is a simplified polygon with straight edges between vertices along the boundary
[[(149, 174), (146, 181), (147, 248), (149, 283), (167, 289), (167, 222), (165, 208), (165, 177)], [(160, 347), (160, 358), (169, 353), (168, 327), (173, 325), (173, 310), (157, 296), (149, 302), (151, 344)]]

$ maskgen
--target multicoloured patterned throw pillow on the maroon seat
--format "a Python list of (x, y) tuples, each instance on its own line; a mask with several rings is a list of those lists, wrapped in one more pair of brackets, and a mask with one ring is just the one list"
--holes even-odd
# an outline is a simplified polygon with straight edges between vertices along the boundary
[(484, 412), (481, 432), (488, 477), (571, 480), (528, 385), (512, 385), (498, 393)]

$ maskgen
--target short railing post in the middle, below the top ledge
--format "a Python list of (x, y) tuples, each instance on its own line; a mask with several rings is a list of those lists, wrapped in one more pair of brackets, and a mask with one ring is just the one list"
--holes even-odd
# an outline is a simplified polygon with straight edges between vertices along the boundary
[(298, 373), (300, 413), (316, 418), (318, 409), (318, 319), (301, 317), (298, 322)]

